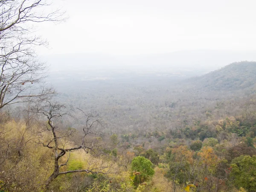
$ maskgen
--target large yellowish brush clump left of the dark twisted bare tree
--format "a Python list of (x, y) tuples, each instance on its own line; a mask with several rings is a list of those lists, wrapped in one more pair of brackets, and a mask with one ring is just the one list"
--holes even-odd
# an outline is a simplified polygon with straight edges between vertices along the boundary
[[(8, 153), (0, 171), (7, 178), (15, 179), (14, 183), (19, 182), (23, 189), (28, 191), (39, 190), (53, 168), (52, 150), (36, 143), (38, 135), (35, 130), (39, 129), (37, 126), (34, 124), (27, 127), (24, 122), (13, 120), (1, 125), (2, 150), (6, 150)], [(12, 182), (12, 180), (8, 182)], [(12, 186), (15, 187), (15, 184)], [(16, 189), (15, 191), (20, 190)]]

